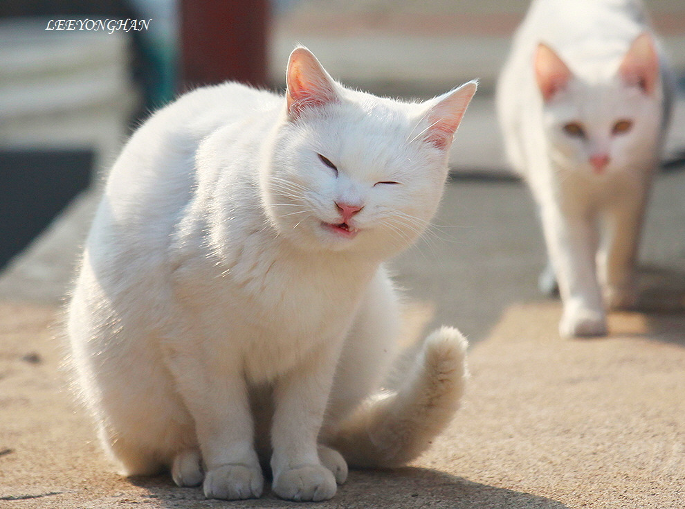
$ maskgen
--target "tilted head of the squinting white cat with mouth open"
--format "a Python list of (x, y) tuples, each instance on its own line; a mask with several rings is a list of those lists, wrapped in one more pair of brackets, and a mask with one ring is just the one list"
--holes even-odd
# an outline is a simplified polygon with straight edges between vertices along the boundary
[(334, 81), (306, 48), (291, 54), (283, 118), (261, 185), (278, 233), (303, 249), (387, 256), (435, 214), (469, 82), (427, 102), (400, 102)]

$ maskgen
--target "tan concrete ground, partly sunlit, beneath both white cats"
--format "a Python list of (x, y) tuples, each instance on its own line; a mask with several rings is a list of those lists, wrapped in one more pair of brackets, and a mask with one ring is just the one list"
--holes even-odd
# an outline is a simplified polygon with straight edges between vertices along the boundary
[[(411, 12), (414, 4), (405, 3)], [(390, 2), (349, 5), (382, 14)], [(368, 20), (369, 11), (357, 19)], [(464, 120), (464, 129), (486, 126), (480, 138), (488, 143), (497, 138), (487, 127), (490, 100), (484, 94), (483, 107)], [(475, 136), (455, 157), (478, 159), (478, 150)], [(545, 257), (527, 190), (485, 178), (504, 170), (495, 159), (485, 168), (483, 178), (457, 168), (435, 226), (392, 263), (417, 328), (456, 325), (471, 340), (462, 409), (412, 465), (351, 472), (336, 497), (317, 507), (684, 508), (685, 165), (655, 184), (641, 250), (641, 311), (612, 314), (610, 335), (588, 340), (560, 339), (560, 305), (536, 290)], [(77, 199), (0, 274), (0, 508), (311, 506), (268, 490), (258, 501), (206, 501), (166, 476), (113, 472), (71, 397), (60, 328), (96, 200), (94, 192)]]

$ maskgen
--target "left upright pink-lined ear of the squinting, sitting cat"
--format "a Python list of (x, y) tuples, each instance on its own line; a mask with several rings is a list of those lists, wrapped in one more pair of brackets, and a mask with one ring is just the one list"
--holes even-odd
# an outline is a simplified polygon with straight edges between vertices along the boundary
[(302, 111), (336, 102), (338, 93), (333, 78), (304, 46), (295, 48), (286, 73), (288, 116), (295, 120)]

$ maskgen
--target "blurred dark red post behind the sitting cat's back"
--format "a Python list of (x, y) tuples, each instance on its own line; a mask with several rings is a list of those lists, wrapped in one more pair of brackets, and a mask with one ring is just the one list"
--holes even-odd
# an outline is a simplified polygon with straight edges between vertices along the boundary
[(181, 0), (181, 89), (266, 85), (268, 0)]

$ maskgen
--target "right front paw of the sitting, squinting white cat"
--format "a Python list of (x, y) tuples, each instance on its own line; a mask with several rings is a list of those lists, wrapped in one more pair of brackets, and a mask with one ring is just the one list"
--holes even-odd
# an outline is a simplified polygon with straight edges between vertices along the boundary
[(291, 468), (276, 474), (273, 479), (275, 494), (296, 502), (328, 500), (337, 489), (333, 473), (322, 465)]

